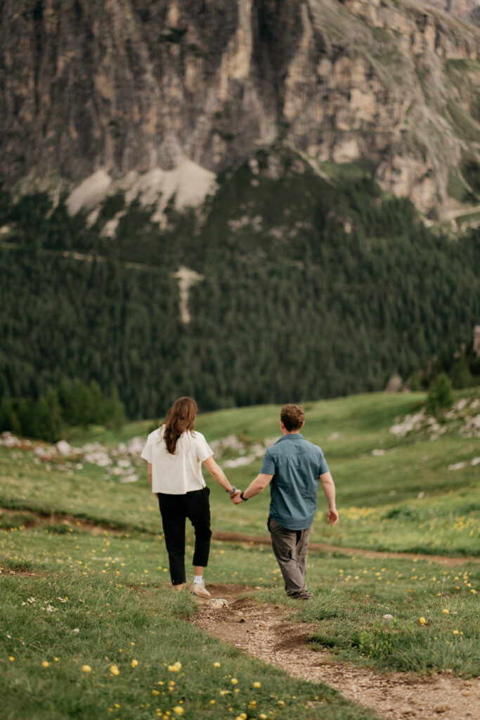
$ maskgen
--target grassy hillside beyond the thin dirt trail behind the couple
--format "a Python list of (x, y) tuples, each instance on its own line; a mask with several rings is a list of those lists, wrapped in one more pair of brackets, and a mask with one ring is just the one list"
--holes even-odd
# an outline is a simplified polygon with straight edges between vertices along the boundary
[[(478, 392), (463, 395), (471, 400)], [(341, 518), (338, 526), (328, 527), (320, 497), (312, 541), (367, 549), (479, 554), (480, 464), (471, 464), (478, 455), (478, 438), (459, 433), (465, 420), (446, 422), (445, 433), (436, 440), (427, 431), (404, 438), (389, 431), (395, 418), (415, 409), (424, 397), (379, 393), (304, 404), (304, 436), (322, 446), (337, 485)], [(278, 418), (279, 407), (266, 405), (206, 413), (197, 418), (196, 427), (210, 442), (235, 436), (243, 455), (249, 457), (255, 445), (279, 436)], [(93, 438), (114, 444), (132, 436), (146, 437), (151, 427), (150, 422), (132, 423), (120, 436), (98, 428), (89, 434), (77, 432), (69, 439), (77, 446)], [(231, 482), (244, 489), (258, 473), (262, 454), (260, 449), (251, 462), (231, 469), (227, 464), (239, 456), (237, 451), (217, 451), (217, 458)], [(142, 461), (141, 479), (122, 485), (106, 475), (104, 468), (91, 464), (84, 463), (82, 469), (72, 464), (65, 472), (60, 460), (32, 464), (30, 453), (3, 448), (0, 456), (1, 505), (94, 518), (153, 534), (160, 531), (158, 508)], [(463, 465), (449, 469), (458, 463)], [(268, 490), (236, 508), (216, 483), (207, 480), (212, 489), (214, 530), (266, 534)]]

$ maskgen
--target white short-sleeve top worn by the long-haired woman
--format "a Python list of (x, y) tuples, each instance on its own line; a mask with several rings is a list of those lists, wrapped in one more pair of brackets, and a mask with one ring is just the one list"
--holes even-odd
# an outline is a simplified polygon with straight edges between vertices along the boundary
[(213, 450), (201, 433), (188, 431), (178, 438), (175, 454), (167, 450), (161, 426), (147, 438), (142, 457), (152, 464), (152, 492), (167, 495), (184, 495), (191, 490), (201, 490), (205, 481), (201, 463), (213, 455)]

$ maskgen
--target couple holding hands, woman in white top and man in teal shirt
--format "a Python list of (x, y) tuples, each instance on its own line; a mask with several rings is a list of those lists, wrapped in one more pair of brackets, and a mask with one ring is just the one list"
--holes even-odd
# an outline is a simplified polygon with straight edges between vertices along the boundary
[(338, 512), (335, 485), (322, 450), (300, 433), (304, 425), (303, 408), (299, 405), (281, 408), (282, 436), (266, 450), (260, 473), (243, 491), (227, 480), (204, 436), (194, 431), (197, 412), (195, 400), (179, 397), (168, 410), (163, 425), (150, 433), (141, 454), (148, 462), (148, 480), (158, 498), (173, 588), (181, 590), (186, 583), (185, 521), (189, 518), (195, 531), (194, 580), (190, 590), (201, 598), (210, 597), (203, 577), (212, 536), (210, 491), (201, 474), (203, 464), (235, 505), (254, 498), (270, 485), (267, 525), (286, 594), (309, 600), (312, 593), (305, 584), (307, 548), (317, 510), (319, 482), (327, 498), (327, 522), (332, 526), (338, 522)]

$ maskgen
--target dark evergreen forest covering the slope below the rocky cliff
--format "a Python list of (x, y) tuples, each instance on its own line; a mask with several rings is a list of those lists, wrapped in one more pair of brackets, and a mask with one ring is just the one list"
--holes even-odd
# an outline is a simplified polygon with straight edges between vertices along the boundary
[[(394, 373), (421, 387), (442, 370), (476, 382), (473, 355), (467, 375), (453, 349), (480, 320), (480, 231), (453, 241), (365, 171), (328, 183), (290, 160), (280, 180), (262, 174), (261, 153), (256, 185), (248, 165), (221, 178), (201, 225), (170, 210), (160, 231), (134, 206), (113, 242), (101, 227), (121, 198), (87, 228), (62, 202), (1, 194), (16, 249), (0, 249), (0, 398), (93, 380), (118, 388), (128, 417), (154, 418), (179, 395), (209, 410), (382, 390)], [(204, 276), (188, 324), (179, 265)]]

